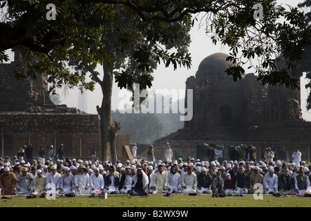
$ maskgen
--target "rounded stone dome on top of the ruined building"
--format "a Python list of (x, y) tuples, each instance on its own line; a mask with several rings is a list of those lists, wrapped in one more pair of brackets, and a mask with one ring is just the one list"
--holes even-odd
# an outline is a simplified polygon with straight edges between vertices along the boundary
[(198, 66), (196, 75), (220, 75), (221, 77), (227, 76), (225, 70), (232, 64), (230, 61), (226, 61), (229, 55), (218, 52), (213, 55), (205, 57)]

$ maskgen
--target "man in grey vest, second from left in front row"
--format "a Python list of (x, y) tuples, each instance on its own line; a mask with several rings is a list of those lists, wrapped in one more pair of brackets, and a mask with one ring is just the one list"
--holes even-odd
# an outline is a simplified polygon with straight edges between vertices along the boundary
[(21, 174), (16, 180), (16, 195), (30, 195), (32, 192), (33, 177), (31, 173), (28, 173), (27, 167), (21, 169)]

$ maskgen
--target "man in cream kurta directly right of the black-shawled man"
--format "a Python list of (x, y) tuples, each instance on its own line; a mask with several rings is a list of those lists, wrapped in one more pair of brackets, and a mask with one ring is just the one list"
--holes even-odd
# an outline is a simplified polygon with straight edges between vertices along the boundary
[(163, 165), (158, 165), (158, 172), (152, 177), (153, 193), (165, 193), (167, 191), (168, 173), (164, 171)]

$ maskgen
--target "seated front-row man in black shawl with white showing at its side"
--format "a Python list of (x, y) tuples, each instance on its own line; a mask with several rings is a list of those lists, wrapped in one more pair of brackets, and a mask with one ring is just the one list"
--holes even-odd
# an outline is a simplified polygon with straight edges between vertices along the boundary
[(148, 195), (149, 179), (146, 173), (138, 168), (136, 174), (132, 177), (133, 186), (130, 195)]

